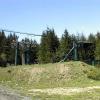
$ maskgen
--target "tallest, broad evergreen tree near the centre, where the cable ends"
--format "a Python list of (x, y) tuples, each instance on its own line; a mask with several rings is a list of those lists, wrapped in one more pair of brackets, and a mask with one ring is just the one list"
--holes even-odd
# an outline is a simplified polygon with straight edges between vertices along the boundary
[(59, 40), (55, 35), (54, 29), (47, 28), (41, 37), (39, 61), (41, 63), (55, 62), (58, 47)]

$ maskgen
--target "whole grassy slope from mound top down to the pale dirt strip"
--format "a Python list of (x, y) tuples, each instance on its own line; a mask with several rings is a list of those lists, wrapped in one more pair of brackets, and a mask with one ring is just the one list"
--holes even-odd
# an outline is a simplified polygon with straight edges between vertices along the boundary
[(93, 66), (82, 62), (67, 62), (0, 68), (0, 83), (24, 91), (24, 93), (32, 88), (100, 85), (100, 81), (88, 79), (84, 74), (91, 67)]

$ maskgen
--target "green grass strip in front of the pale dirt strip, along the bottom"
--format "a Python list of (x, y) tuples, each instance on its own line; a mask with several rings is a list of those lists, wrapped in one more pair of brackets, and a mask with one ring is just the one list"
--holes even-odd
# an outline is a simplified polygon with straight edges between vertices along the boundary
[(48, 95), (38, 94), (32, 97), (33, 100), (100, 100), (100, 90), (91, 92), (76, 93), (74, 95)]

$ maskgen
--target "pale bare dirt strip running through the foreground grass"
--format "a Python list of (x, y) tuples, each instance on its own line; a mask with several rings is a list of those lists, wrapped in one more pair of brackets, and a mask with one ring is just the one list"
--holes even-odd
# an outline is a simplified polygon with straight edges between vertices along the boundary
[(100, 86), (92, 86), (92, 87), (66, 87), (66, 88), (53, 88), (53, 89), (31, 89), (29, 90), (29, 94), (34, 93), (47, 93), (48, 95), (59, 94), (59, 95), (73, 95), (80, 92), (90, 92), (93, 89), (100, 89)]

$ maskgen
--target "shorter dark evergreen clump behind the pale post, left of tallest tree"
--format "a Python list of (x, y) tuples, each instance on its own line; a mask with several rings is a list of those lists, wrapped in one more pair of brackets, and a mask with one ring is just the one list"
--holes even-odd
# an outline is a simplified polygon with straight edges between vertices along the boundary
[(38, 43), (28, 38), (22, 39), (20, 44), (20, 57), (22, 64), (38, 63)]

